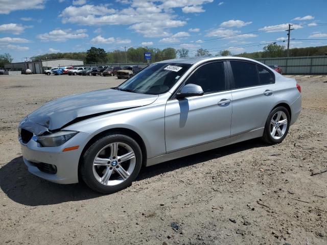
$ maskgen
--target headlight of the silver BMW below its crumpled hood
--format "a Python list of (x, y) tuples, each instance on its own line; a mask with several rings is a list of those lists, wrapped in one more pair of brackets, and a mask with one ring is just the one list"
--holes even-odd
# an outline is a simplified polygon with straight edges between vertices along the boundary
[(73, 138), (78, 132), (76, 131), (59, 131), (57, 133), (44, 136), (37, 136), (35, 141), (39, 142), (44, 147), (55, 147), (62, 145), (69, 139)]

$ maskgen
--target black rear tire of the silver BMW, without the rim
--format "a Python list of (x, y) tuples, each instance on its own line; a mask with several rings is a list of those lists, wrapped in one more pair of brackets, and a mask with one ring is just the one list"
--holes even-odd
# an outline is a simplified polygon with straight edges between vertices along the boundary
[[(278, 111), (282, 111), (282, 112), (284, 112), (286, 114), (286, 117), (287, 117), (287, 127), (286, 127), (286, 131), (285, 131), (284, 135), (281, 138), (274, 139), (272, 137), (271, 133), (270, 133), (271, 119), (272, 119), (272, 117)], [(266, 121), (266, 124), (265, 124), (265, 130), (264, 130), (264, 134), (262, 136), (262, 140), (264, 142), (268, 143), (268, 144), (278, 144), (278, 143), (281, 143), (285, 139), (285, 137), (286, 137), (286, 135), (288, 133), (288, 130), (290, 128), (290, 122), (291, 122), (291, 120), (290, 120), (290, 113), (289, 113), (289, 111), (285, 107), (283, 107), (283, 106), (276, 107), (275, 109), (273, 109), (269, 113), (269, 116), (268, 116), (267, 121)]]

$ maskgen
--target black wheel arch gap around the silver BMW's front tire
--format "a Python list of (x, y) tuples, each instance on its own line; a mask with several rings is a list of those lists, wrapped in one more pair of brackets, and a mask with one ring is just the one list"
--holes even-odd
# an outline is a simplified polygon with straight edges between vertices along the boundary
[(81, 175), (80, 175), (80, 166), (81, 166), (81, 163), (82, 163), (82, 158), (83, 158), (84, 152), (89, 148), (89, 146), (92, 143), (94, 143), (100, 137), (102, 137), (103, 135), (108, 134), (108, 133), (121, 133), (121, 134), (125, 134), (125, 135), (130, 136), (131, 138), (133, 138), (141, 148), (141, 151), (142, 151), (142, 165), (146, 166), (146, 164), (147, 164), (147, 148), (146, 148), (146, 144), (144, 143), (144, 140), (142, 139), (142, 137), (138, 133), (136, 133), (135, 131), (133, 131), (131, 129), (127, 129), (127, 128), (107, 129), (107, 130), (104, 130), (104, 131), (98, 133), (94, 137), (92, 137), (85, 144), (85, 146), (83, 148), (83, 151), (82, 151), (82, 153), (80, 155), (79, 162), (78, 162), (78, 181), (79, 182), (82, 180)]

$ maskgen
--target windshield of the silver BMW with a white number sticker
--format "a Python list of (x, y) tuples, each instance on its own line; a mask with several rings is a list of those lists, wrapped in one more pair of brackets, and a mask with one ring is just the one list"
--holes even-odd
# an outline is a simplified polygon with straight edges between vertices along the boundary
[(181, 63), (153, 64), (122, 83), (117, 89), (146, 94), (166, 93), (190, 67), (190, 64)]

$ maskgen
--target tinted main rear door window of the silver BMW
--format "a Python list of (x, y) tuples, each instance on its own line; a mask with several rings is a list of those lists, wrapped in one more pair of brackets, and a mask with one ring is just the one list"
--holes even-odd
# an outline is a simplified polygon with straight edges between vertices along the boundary
[(230, 61), (234, 77), (234, 88), (244, 88), (259, 85), (256, 65), (243, 61)]

